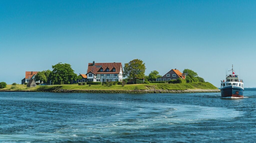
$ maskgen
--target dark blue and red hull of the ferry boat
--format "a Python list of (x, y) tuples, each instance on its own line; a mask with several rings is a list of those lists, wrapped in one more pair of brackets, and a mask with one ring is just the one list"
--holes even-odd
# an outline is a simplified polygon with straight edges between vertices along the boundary
[(220, 89), (221, 98), (243, 98), (244, 89), (236, 86), (223, 87)]

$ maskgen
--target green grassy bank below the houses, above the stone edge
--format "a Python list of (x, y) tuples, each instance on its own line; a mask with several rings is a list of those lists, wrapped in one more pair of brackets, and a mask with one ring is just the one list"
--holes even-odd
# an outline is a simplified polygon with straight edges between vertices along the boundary
[(25, 85), (7, 85), (6, 88), (0, 90), (8, 91), (38, 91), (38, 92), (56, 92), (60, 90), (187, 90), (187, 89), (217, 89), (209, 82), (201, 83), (179, 83), (179, 84), (130, 84), (130, 85), (52, 85), (52, 86), (36, 86), (26, 87)]

